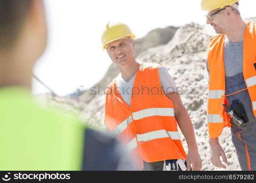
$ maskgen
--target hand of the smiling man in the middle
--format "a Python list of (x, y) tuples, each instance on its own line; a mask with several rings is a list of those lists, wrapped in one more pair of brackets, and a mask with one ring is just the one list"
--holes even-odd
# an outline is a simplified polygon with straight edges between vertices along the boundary
[(187, 169), (190, 171), (192, 164), (193, 171), (199, 171), (202, 168), (202, 160), (198, 153), (198, 150), (188, 150), (187, 156)]

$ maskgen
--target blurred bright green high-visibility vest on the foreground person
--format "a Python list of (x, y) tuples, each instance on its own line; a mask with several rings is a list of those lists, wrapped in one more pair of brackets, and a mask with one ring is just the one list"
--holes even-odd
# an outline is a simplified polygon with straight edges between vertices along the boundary
[(0, 170), (80, 170), (85, 126), (38, 106), (22, 87), (0, 88)]

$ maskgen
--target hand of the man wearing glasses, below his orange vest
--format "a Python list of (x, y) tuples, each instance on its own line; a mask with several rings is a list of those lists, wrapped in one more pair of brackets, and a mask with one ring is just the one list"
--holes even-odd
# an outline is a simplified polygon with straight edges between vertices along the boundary
[(222, 162), (220, 161), (220, 156), (222, 157), (222, 160), (224, 161), (224, 163), (227, 163), (227, 157), (225, 155), (224, 150), (222, 149), (222, 147), (218, 142), (214, 142), (214, 143), (210, 143), (210, 147), (211, 147), (211, 162), (215, 167), (219, 167), (219, 168), (225, 168), (226, 166), (222, 164)]

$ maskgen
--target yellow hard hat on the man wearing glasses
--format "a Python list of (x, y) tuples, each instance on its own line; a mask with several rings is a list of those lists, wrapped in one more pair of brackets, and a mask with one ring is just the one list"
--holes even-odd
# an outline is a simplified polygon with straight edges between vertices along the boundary
[(212, 11), (217, 8), (223, 8), (227, 5), (232, 5), (240, 0), (201, 0), (201, 9)]

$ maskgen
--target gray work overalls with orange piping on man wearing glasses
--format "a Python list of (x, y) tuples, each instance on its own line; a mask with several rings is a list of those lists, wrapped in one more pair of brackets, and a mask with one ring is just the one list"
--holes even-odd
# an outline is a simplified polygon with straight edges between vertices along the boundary
[(225, 94), (229, 95), (226, 97), (228, 107), (231, 107), (234, 100), (239, 100), (243, 104), (249, 119), (249, 122), (242, 127), (232, 120), (230, 121), (232, 142), (236, 149), (237, 158), (241, 170), (256, 170), (256, 118), (252, 111), (248, 90), (243, 89), (246, 89), (243, 73), (226, 78)]

